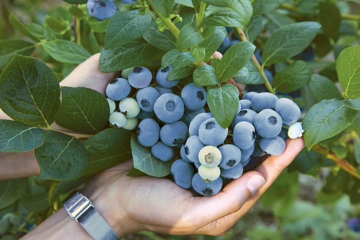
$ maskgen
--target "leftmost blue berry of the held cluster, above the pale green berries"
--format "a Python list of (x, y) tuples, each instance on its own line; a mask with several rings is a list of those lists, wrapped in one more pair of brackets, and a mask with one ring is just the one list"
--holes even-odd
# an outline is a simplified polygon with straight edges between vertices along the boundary
[(129, 96), (131, 91), (131, 86), (129, 82), (125, 78), (115, 78), (111, 82), (109, 82), (108, 86), (106, 86), (106, 96), (109, 99), (114, 101), (119, 101), (121, 99)]

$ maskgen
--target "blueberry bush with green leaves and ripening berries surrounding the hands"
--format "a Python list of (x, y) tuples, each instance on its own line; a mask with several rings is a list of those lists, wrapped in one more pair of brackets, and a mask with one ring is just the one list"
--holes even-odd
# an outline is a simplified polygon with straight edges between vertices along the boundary
[[(40, 166), (0, 181), (0, 236), (22, 236), (125, 160), (128, 176), (209, 196), (297, 137), (306, 148), (260, 200), (283, 229), (247, 236), (359, 236), (359, 1), (64, 1), (26, 23), (5, 8), (13, 1), (0, 9), (0, 108), (13, 119), (0, 120), (0, 152), (35, 149)], [(106, 96), (60, 87), (96, 53), (100, 71), (121, 72)], [(321, 179), (318, 205), (297, 200), (306, 176)]]

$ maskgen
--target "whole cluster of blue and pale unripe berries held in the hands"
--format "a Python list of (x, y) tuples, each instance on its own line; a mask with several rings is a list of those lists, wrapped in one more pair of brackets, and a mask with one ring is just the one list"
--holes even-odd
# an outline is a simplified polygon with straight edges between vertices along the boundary
[(149, 69), (125, 69), (108, 84), (106, 94), (111, 126), (137, 127), (139, 143), (151, 147), (159, 160), (181, 156), (171, 166), (178, 186), (205, 196), (217, 194), (265, 154), (282, 154), (285, 139), (302, 135), (297, 104), (269, 92), (244, 94), (231, 126), (222, 128), (204, 109), (206, 90), (193, 82), (181, 88), (180, 80), (167, 81), (171, 69), (158, 69), (153, 83)]

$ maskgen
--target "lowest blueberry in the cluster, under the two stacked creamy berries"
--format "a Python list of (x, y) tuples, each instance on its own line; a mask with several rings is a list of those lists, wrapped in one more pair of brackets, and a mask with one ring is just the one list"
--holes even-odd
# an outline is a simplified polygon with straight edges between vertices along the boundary
[(217, 178), (212, 182), (205, 182), (199, 173), (195, 173), (192, 180), (194, 190), (203, 196), (212, 196), (221, 191), (222, 179)]

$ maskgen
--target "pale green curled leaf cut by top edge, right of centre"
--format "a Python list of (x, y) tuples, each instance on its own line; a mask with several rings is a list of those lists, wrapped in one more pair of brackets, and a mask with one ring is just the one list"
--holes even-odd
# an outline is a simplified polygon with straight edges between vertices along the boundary
[(203, 0), (205, 3), (219, 7), (229, 7), (234, 9), (246, 23), (252, 16), (252, 5), (250, 0)]

